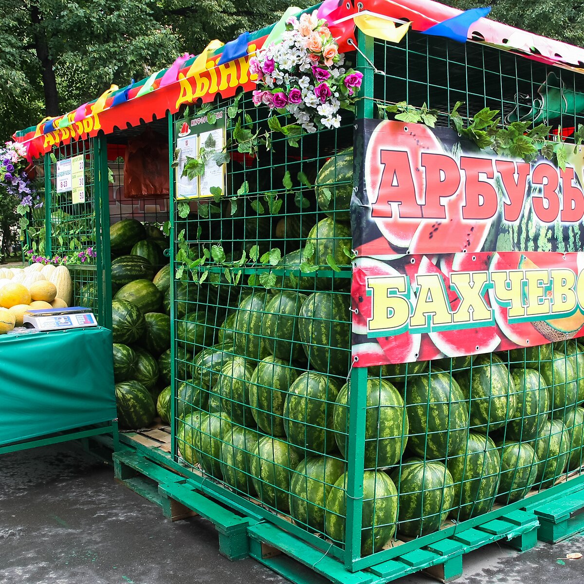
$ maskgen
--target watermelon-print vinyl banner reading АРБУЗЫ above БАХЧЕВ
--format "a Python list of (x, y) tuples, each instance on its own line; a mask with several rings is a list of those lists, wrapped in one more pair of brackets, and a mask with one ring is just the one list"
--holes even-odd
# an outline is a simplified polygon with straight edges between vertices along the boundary
[(387, 120), (365, 120), (360, 141), (355, 366), (584, 334), (579, 152), (569, 148), (561, 170), (478, 150), (448, 128)]

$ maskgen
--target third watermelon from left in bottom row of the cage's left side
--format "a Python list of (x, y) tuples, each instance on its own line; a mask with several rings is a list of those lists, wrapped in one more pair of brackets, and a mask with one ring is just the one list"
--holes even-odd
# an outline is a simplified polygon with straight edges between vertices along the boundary
[(221, 474), (223, 480), (237, 491), (254, 493), (251, 456), (258, 450), (259, 436), (248, 428), (234, 426), (221, 444)]

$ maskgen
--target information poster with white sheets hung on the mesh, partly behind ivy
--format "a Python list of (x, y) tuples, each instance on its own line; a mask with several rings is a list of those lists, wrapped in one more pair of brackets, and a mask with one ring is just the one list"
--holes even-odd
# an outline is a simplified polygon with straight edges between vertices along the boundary
[[(225, 164), (218, 165), (213, 157), (224, 151), (226, 119), (225, 110), (219, 110), (176, 124), (177, 199), (212, 197), (213, 188), (225, 194)], [(199, 173), (189, 178), (189, 166), (200, 169)]]

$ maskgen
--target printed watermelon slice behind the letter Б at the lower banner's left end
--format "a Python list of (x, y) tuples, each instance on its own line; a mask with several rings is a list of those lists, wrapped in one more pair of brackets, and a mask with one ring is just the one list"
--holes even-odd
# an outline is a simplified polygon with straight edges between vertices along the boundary
[[(385, 262), (380, 262), (371, 258), (357, 258), (353, 267), (353, 288), (352, 288), (352, 308), (353, 308), (353, 334), (367, 335), (367, 321), (371, 318), (371, 296), (367, 296), (367, 276), (401, 276), (394, 267)], [(415, 295), (410, 288), (409, 299), (415, 303)], [(382, 353), (374, 354), (371, 347), (367, 347), (367, 356), (360, 358), (360, 366), (384, 365), (394, 363), (409, 363), (419, 358), (420, 335), (411, 335), (409, 332), (394, 336), (383, 336), (371, 339), (370, 345), (377, 344)], [(353, 356), (355, 355), (353, 347)], [(373, 359), (363, 362), (364, 359)]]

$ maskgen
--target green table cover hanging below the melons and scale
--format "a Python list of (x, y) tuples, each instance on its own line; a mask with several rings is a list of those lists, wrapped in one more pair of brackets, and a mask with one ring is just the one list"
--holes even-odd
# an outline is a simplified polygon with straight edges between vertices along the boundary
[(111, 331), (0, 336), (0, 444), (115, 418)]

